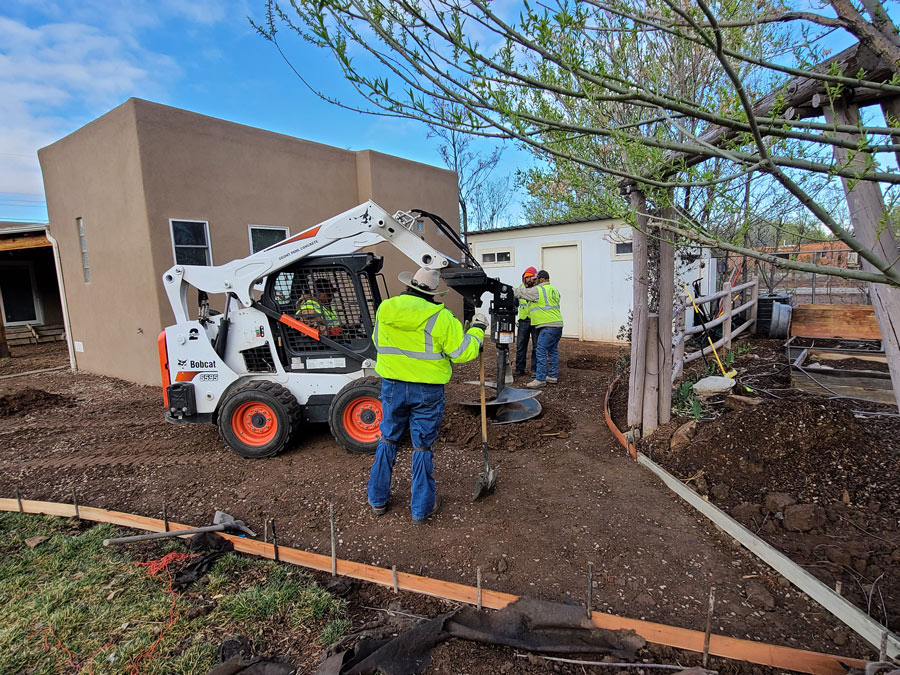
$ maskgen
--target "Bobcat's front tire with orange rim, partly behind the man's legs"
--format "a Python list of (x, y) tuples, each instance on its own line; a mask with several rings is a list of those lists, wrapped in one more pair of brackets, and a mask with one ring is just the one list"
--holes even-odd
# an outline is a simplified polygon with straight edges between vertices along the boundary
[(328, 412), (335, 440), (350, 452), (370, 455), (381, 438), (381, 378), (365, 377), (345, 385)]

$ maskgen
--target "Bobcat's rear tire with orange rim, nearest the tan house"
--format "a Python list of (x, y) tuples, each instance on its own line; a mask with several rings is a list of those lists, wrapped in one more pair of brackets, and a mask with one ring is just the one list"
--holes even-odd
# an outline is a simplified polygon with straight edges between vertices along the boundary
[(297, 399), (275, 382), (257, 380), (235, 389), (219, 409), (219, 436), (241, 457), (272, 457), (300, 427)]

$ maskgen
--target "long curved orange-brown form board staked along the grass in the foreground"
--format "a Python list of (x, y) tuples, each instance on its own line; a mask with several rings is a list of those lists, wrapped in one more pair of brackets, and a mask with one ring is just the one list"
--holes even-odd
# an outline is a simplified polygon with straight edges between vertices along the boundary
[[(72, 504), (57, 504), (26, 499), (23, 499), (21, 502), (16, 499), (0, 499), (0, 511), (15, 512), (20, 510), (23, 513), (45, 514), (63, 518), (75, 517), (75, 506)], [(107, 511), (105, 509), (81, 506), (78, 509), (78, 514), (84, 520), (112, 523), (122, 527), (148, 530), (150, 532), (162, 532), (165, 529), (165, 524), (162, 520), (122, 513), (121, 511)], [(187, 529), (189, 527), (191, 526), (169, 522), (169, 528), (172, 530)], [(272, 544), (226, 534), (222, 536), (234, 544), (236, 551), (262, 558), (274, 559), (275, 557)], [(332, 559), (329, 556), (299, 551), (286, 546), (279, 546), (278, 553), (279, 559), (284, 562), (301, 565), (320, 572), (331, 571)], [(393, 570), (383, 567), (337, 559), (335, 569), (336, 573), (341, 576), (382, 586), (392, 587), (394, 585)], [(411, 591), (470, 605), (475, 605), (478, 602), (478, 589), (474, 586), (431, 579), (417, 574), (398, 571), (397, 587), (403, 591)], [(486, 589), (481, 591), (482, 605), (488, 609), (503, 609), (518, 599), (519, 596), (511, 593), (501, 593)], [(628, 619), (603, 612), (592, 612), (591, 622), (598, 628), (606, 628), (608, 630), (633, 630), (648, 642), (694, 652), (703, 651), (705, 635), (702, 631), (668, 626), (652, 621)], [(800, 673), (810, 673), (810, 675), (844, 675), (846, 666), (864, 668), (866, 664), (866, 661), (860, 659), (781, 647), (779, 645), (770, 645), (716, 634), (711, 634), (709, 637), (709, 653), (729, 659), (738, 659)]]

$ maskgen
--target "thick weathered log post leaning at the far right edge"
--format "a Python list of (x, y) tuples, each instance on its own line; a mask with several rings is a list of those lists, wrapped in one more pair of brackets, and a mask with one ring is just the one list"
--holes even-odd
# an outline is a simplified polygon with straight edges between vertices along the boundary
[[(829, 123), (858, 124), (859, 107), (854, 104), (846, 104), (843, 101), (835, 101), (834, 110), (823, 108), (825, 119)], [(851, 134), (840, 134), (854, 141), (859, 137)], [(852, 159), (844, 148), (834, 149), (835, 161), (840, 164), (859, 165), (864, 159), (862, 153)], [(853, 225), (854, 234), (859, 242), (872, 249), (882, 260), (897, 264), (897, 242), (891, 228), (885, 225), (884, 198), (881, 187), (871, 181), (858, 181), (853, 183), (845, 178), (841, 179), (844, 192), (847, 195), (847, 206), (850, 210), (850, 223)], [(874, 269), (872, 265), (862, 259), (864, 269)], [(887, 356), (888, 367), (891, 373), (891, 383), (894, 386), (894, 398), (900, 406), (900, 288), (887, 284), (870, 284), (869, 294), (872, 298), (872, 306), (875, 316), (878, 318), (878, 327), (881, 329), (881, 339), (884, 343), (884, 352)]]

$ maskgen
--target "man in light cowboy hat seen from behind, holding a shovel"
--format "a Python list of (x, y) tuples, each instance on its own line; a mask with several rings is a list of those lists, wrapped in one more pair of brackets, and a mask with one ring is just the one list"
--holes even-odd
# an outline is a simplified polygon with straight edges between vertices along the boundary
[(453, 363), (478, 357), (487, 318), (476, 312), (472, 327), (464, 331), (453, 313), (436, 299), (440, 274), (419, 269), (415, 276), (398, 277), (408, 288), (381, 303), (375, 316), (372, 341), (378, 352), (375, 372), (381, 377), (381, 440), (369, 474), (369, 506), (380, 516), (388, 510), (391, 474), (397, 443), (409, 429), (412, 439), (413, 523), (423, 524), (440, 509), (435, 494), (434, 456), (444, 417), (444, 385)]

